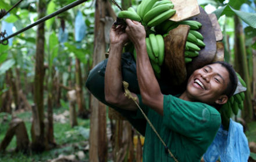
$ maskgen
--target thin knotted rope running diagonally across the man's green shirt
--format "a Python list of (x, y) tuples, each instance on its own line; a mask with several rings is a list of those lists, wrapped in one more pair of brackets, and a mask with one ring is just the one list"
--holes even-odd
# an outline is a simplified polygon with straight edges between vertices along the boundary
[(135, 102), (135, 104), (137, 105), (137, 107), (140, 109), (141, 113), (143, 114), (143, 116), (145, 117), (145, 119), (148, 121), (148, 124), (150, 124), (150, 127), (152, 128), (152, 130), (155, 132), (155, 134), (157, 134), (157, 137), (160, 139), (160, 141), (163, 143), (163, 146), (165, 146), (165, 152), (169, 153), (170, 156), (173, 158), (173, 160), (175, 162), (179, 162), (175, 156), (173, 156), (172, 152), (170, 152), (170, 149), (168, 148), (168, 146), (166, 145), (166, 143), (163, 141), (163, 139), (160, 137), (160, 135), (158, 134), (157, 130), (155, 130), (155, 127), (153, 126), (153, 124), (151, 123), (150, 119), (148, 119), (147, 115), (145, 115), (143, 109), (140, 108), (140, 105), (138, 105), (137, 103), (137, 97), (133, 97), (131, 95), (131, 92), (128, 90), (128, 86), (129, 83), (123, 81), (123, 87), (125, 88), (125, 97), (133, 100)]

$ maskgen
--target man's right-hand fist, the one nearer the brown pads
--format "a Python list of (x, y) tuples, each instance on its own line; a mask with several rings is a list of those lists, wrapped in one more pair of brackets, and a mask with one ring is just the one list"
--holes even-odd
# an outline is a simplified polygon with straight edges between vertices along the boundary
[(138, 21), (126, 19), (126, 33), (133, 45), (140, 46), (140, 43), (145, 41), (146, 32), (144, 26)]

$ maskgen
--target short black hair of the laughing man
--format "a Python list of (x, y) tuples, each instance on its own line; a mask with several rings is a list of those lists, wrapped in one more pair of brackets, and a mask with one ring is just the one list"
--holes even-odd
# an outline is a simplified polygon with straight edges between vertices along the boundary
[(232, 65), (230, 65), (225, 61), (216, 61), (216, 62), (213, 62), (212, 64), (221, 64), (222, 67), (225, 67), (227, 69), (227, 72), (229, 72), (229, 83), (227, 84), (227, 87), (224, 90), (223, 94), (227, 95), (228, 98), (232, 97), (237, 87), (236, 71), (234, 71)]

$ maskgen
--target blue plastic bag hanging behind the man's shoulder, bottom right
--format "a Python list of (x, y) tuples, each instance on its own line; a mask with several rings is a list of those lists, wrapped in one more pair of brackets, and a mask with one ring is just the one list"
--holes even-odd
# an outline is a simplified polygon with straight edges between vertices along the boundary
[(221, 126), (204, 154), (205, 162), (215, 162), (221, 159), (225, 162), (248, 161), (250, 149), (248, 140), (243, 132), (243, 126), (230, 119), (229, 131)]

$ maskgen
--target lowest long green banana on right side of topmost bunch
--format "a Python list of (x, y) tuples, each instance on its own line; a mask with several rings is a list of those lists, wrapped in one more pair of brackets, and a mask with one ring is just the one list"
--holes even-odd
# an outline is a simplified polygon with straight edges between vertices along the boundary
[(173, 14), (175, 14), (176, 10), (173, 9), (169, 9), (166, 10), (165, 12), (159, 14), (157, 17), (155, 17), (154, 19), (150, 20), (148, 22), (148, 27), (154, 27), (160, 23), (162, 23), (163, 21), (169, 19), (171, 16), (173, 16)]

